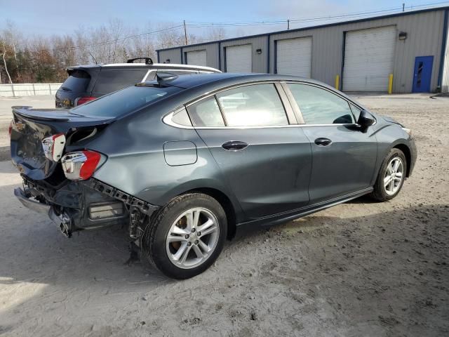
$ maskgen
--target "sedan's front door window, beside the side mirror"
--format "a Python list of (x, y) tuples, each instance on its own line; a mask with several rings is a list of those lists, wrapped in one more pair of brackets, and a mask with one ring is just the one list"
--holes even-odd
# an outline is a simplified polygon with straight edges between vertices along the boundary
[(288, 84), (306, 124), (354, 124), (346, 100), (307, 84)]

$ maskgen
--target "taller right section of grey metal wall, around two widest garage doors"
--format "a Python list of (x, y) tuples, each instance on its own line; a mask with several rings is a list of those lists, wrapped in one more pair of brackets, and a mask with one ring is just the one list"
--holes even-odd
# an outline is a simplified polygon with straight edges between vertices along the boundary
[[(396, 40), (394, 53), (393, 92), (410, 93), (413, 85), (415, 57), (434, 55), (431, 91), (438, 84), (444, 11), (431, 11), (380, 20), (354, 22), (344, 25), (307, 29), (299, 32), (272, 34), (270, 37), (270, 72), (274, 71), (274, 41), (293, 37), (308, 37), (312, 43), (311, 77), (333, 86), (335, 76), (342, 78), (342, 46), (344, 32), (396, 25), (398, 32), (406, 32), (406, 40)], [(344, 84), (342, 86), (344, 90)], [(385, 91), (387, 91), (387, 84)]]

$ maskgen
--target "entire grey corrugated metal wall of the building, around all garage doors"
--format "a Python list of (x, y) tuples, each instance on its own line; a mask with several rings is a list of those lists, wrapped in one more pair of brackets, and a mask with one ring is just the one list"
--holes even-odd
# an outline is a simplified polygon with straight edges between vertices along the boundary
[[(340, 75), (340, 79), (342, 78), (344, 32), (395, 25), (397, 32), (407, 33), (407, 39), (396, 40), (393, 92), (410, 93), (412, 91), (415, 58), (417, 56), (429, 55), (434, 56), (431, 91), (436, 91), (441, 61), (444, 12), (445, 9), (438, 9), (435, 11), (423, 11), (421, 13), (408, 15), (389, 16), (387, 18), (375, 20), (349, 22), (347, 24), (329, 25), (327, 27), (317, 27), (297, 31), (292, 30), (289, 32), (278, 32), (276, 34), (267, 34), (257, 37), (233, 39), (232, 41), (221, 41), (220, 70), (225, 70), (225, 48), (227, 46), (252, 44), (253, 72), (274, 72), (274, 64), (276, 62), (276, 40), (292, 39), (295, 37), (312, 37), (311, 78), (333, 86), (337, 74)], [(218, 44), (219, 43), (217, 42), (213, 42), (201, 46), (188, 46), (183, 47), (182, 50), (193, 51), (207, 48), (208, 65), (211, 67), (218, 67), (219, 62), (213, 61), (214, 59), (218, 59)], [(257, 49), (261, 49), (262, 53), (257, 54)], [(446, 49), (446, 55), (448, 55), (448, 53), (449, 51)], [(166, 60), (166, 58), (170, 58), (170, 61), (175, 63), (177, 62), (176, 60), (180, 60), (180, 48), (165, 51), (162, 50), (159, 51), (159, 55), (159, 60), (161, 62)], [(447, 58), (448, 57), (446, 57), (446, 59)], [(449, 86), (449, 61), (444, 69), (444, 80), (447, 88)]]

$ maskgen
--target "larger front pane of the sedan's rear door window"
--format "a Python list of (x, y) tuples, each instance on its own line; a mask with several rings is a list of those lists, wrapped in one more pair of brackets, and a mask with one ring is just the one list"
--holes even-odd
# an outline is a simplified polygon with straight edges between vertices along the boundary
[(217, 94), (227, 126), (288, 125), (274, 84), (254, 84)]

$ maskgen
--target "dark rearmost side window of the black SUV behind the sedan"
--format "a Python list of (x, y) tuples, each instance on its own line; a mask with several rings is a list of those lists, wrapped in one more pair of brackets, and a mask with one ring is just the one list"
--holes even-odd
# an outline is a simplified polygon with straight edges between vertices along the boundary
[(97, 83), (93, 88), (94, 93), (106, 94), (112, 93), (127, 86), (133, 86), (134, 84), (142, 81), (147, 74), (148, 69), (142, 67), (142, 69), (105, 69), (103, 68), (98, 74)]

